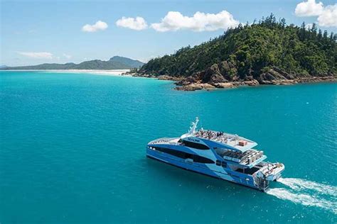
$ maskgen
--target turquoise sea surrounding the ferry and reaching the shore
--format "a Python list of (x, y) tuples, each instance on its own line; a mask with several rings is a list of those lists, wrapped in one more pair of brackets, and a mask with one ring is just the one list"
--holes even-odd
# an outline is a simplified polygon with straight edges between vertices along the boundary
[[(183, 92), (155, 79), (0, 72), (0, 223), (336, 223), (337, 84)], [(172, 167), (146, 143), (203, 128), (259, 143), (267, 193)]]

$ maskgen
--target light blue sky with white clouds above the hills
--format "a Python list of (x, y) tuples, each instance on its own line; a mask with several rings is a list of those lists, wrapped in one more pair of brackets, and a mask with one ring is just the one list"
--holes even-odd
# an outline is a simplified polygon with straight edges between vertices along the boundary
[(0, 65), (7, 66), (114, 55), (147, 62), (270, 13), (337, 33), (337, 4), (330, 0), (0, 0), (0, 12)]

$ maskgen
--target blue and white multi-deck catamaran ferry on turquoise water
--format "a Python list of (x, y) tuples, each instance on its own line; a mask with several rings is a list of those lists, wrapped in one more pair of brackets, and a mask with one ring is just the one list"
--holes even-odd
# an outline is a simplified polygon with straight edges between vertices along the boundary
[(180, 138), (160, 138), (148, 143), (146, 156), (193, 172), (250, 186), (261, 191), (277, 181), (284, 164), (264, 162), (256, 142), (214, 130), (196, 130), (192, 123)]

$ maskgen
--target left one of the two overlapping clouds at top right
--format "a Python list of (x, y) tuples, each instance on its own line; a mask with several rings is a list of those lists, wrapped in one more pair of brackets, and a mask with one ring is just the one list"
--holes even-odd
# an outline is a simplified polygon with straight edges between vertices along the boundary
[(319, 16), (323, 11), (323, 3), (316, 3), (316, 0), (302, 1), (295, 9), (296, 16)]

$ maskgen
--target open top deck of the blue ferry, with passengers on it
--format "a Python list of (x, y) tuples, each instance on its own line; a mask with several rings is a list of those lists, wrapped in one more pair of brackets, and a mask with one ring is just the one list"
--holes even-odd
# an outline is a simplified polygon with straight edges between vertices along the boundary
[(253, 142), (247, 138), (215, 130), (200, 129), (194, 132), (191, 136), (219, 142), (223, 145), (228, 145), (232, 150), (240, 152), (246, 152), (247, 150), (252, 149), (252, 147), (257, 146), (257, 142)]

